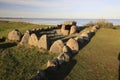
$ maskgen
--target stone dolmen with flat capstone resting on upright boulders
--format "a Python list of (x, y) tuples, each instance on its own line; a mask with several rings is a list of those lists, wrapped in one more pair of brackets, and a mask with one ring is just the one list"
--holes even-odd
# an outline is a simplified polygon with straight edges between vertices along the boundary
[(61, 25), (61, 33), (63, 35), (74, 34), (77, 31), (77, 26), (75, 21), (65, 21)]

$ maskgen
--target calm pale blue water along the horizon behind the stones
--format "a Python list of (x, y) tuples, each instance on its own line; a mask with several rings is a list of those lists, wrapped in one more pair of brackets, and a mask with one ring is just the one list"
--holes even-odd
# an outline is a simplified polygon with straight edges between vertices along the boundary
[[(77, 22), (77, 25), (82, 26), (89, 22), (94, 22), (97, 19), (0, 18), (0, 20), (21, 21), (21, 22), (29, 22), (34, 24), (51, 24), (51, 25), (61, 24), (66, 20), (74, 20)], [(120, 19), (106, 19), (106, 20), (112, 22), (114, 25), (120, 25)]]

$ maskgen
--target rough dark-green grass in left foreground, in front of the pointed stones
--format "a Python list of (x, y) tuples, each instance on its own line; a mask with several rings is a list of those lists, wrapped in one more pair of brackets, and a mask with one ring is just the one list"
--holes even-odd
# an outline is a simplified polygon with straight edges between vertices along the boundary
[(40, 53), (36, 48), (13, 47), (0, 51), (0, 80), (29, 80), (46, 68), (55, 55)]

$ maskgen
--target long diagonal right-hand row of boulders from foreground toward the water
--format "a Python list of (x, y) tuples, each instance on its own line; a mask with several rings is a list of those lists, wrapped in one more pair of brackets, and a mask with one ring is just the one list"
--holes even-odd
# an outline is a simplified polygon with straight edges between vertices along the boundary
[[(69, 62), (74, 54), (76, 54), (80, 50), (79, 44), (84, 44), (85, 42), (89, 42), (95, 32), (99, 29), (99, 26), (95, 25), (91, 29), (82, 32), (76, 38), (70, 38), (66, 44), (64, 44), (61, 40), (57, 40), (51, 46), (50, 51), (54, 53), (60, 53), (56, 59), (48, 60), (47, 68), (45, 71), (50, 70), (51, 73), (56, 72), (57, 69), (62, 66), (63, 63)], [(53, 50), (52, 50), (53, 49)], [(40, 72), (41, 73), (41, 72)], [(42, 73), (43, 75), (37, 75), (33, 77), (31, 80), (44, 80), (46, 72)]]

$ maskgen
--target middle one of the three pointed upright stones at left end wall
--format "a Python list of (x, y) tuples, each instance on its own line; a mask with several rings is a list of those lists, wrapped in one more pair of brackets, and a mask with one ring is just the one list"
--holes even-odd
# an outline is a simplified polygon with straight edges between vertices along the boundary
[(29, 37), (29, 40), (28, 40), (28, 44), (30, 46), (38, 46), (38, 38), (36, 36), (36, 34), (31, 34), (31, 36)]

